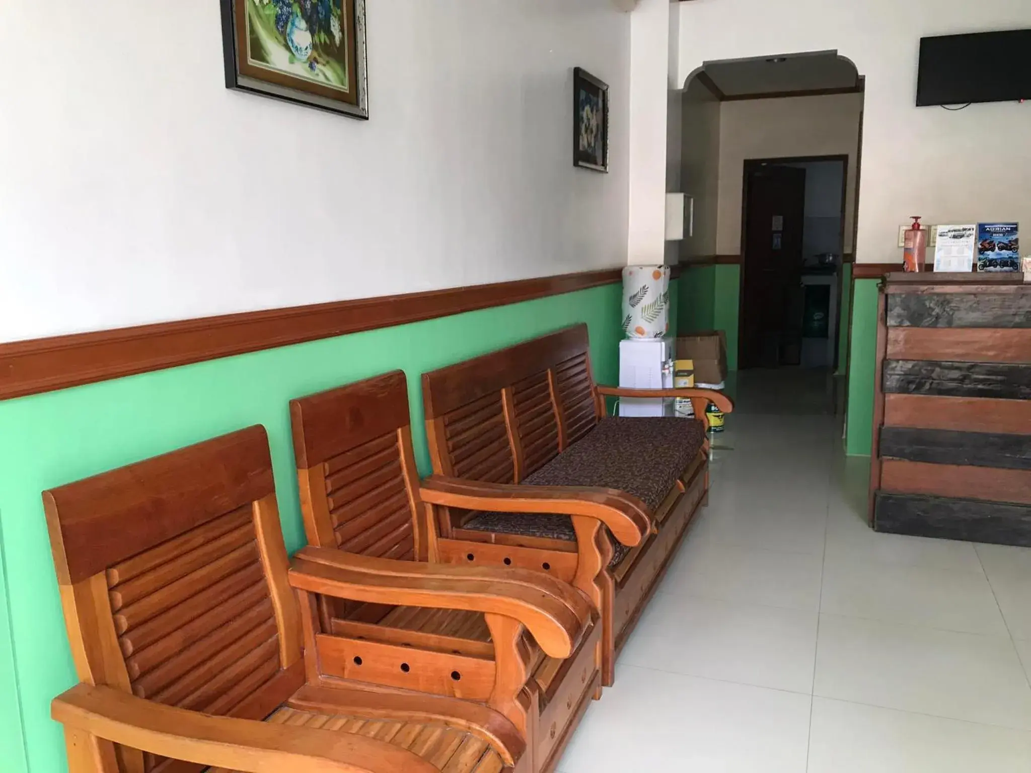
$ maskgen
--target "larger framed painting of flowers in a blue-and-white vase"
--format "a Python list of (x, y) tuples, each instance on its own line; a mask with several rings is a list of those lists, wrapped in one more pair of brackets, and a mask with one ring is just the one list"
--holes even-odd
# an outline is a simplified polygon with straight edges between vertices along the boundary
[(226, 87), (367, 119), (365, 0), (222, 0)]

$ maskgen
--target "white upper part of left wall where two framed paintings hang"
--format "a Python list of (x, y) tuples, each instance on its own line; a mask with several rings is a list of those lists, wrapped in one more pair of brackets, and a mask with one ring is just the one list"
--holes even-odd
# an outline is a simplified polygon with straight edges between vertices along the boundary
[(215, 0), (38, 6), (0, 3), (0, 341), (627, 262), (611, 0), (371, 0), (368, 123), (227, 91)]

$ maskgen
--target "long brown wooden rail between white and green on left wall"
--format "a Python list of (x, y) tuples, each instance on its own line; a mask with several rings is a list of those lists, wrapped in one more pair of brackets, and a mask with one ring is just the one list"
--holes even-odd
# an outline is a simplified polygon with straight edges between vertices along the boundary
[(621, 280), (622, 267), (0, 343), (0, 400)]

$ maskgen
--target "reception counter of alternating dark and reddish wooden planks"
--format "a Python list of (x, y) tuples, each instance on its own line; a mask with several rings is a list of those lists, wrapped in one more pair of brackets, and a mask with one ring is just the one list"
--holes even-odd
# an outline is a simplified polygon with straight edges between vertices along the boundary
[(892, 273), (877, 314), (873, 528), (1031, 546), (1031, 283)]

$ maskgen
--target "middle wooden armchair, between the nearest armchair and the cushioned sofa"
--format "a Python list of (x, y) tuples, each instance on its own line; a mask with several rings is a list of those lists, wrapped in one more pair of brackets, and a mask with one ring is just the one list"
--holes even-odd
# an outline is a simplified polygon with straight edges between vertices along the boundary
[[(602, 628), (587, 596), (511, 562), (437, 563), (404, 373), (293, 400), (291, 417), (312, 545), (297, 556), (294, 566), (306, 578), (294, 585), (327, 594), (301, 605), (306, 625), (319, 631), (322, 673), (483, 701), (525, 734), (534, 770), (551, 770), (589, 699), (600, 694)], [(375, 572), (380, 584), (366, 579), (328, 593), (314, 578), (329, 569)], [(541, 594), (568, 606), (559, 625), (543, 625), (533, 608)]]

